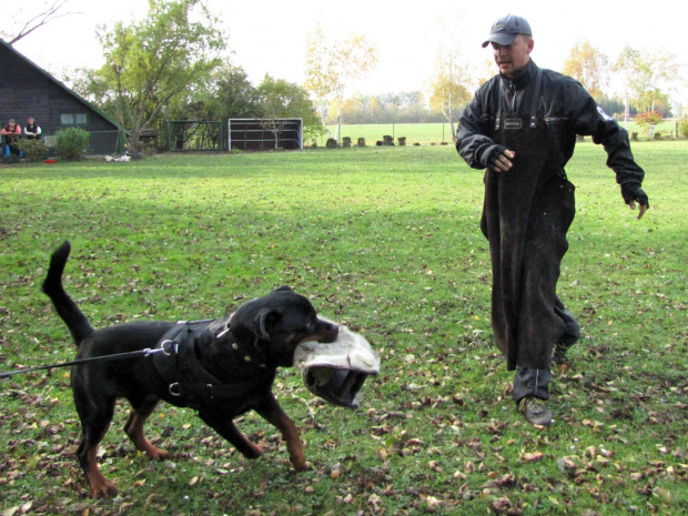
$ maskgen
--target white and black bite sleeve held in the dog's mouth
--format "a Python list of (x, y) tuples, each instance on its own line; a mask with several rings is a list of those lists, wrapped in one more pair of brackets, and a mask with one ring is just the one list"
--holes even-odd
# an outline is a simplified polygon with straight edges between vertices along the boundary
[(294, 365), (313, 394), (334, 405), (356, 408), (365, 378), (380, 373), (380, 353), (362, 335), (340, 326), (334, 342), (299, 345)]

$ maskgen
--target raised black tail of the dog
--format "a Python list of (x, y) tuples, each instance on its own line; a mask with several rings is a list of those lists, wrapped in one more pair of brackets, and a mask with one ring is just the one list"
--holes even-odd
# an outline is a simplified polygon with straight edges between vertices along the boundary
[(83, 315), (83, 312), (79, 310), (77, 303), (72, 301), (62, 287), (62, 273), (64, 272), (64, 265), (67, 264), (67, 259), (69, 259), (71, 249), (72, 246), (70, 243), (64, 242), (52, 253), (52, 256), (50, 256), (48, 276), (41, 290), (50, 297), (58, 315), (62, 317), (62, 321), (64, 321), (64, 324), (67, 324), (69, 328), (69, 333), (72, 334), (74, 343), (79, 345), (79, 343), (83, 341), (85, 336), (93, 333), (94, 330), (85, 315)]

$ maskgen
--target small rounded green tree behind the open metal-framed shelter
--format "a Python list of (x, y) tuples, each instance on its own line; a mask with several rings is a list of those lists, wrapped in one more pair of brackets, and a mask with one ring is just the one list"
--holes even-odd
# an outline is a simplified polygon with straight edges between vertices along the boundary
[(263, 129), (274, 133), (275, 149), (279, 146), (280, 132), (283, 129), (280, 119), (302, 119), (304, 135), (307, 138), (317, 136), (324, 132), (308, 92), (299, 84), (284, 79), (275, 80), (265, 74), (263, 82), (257, 87), (256, 97), (262, 117), (266, 119)]

